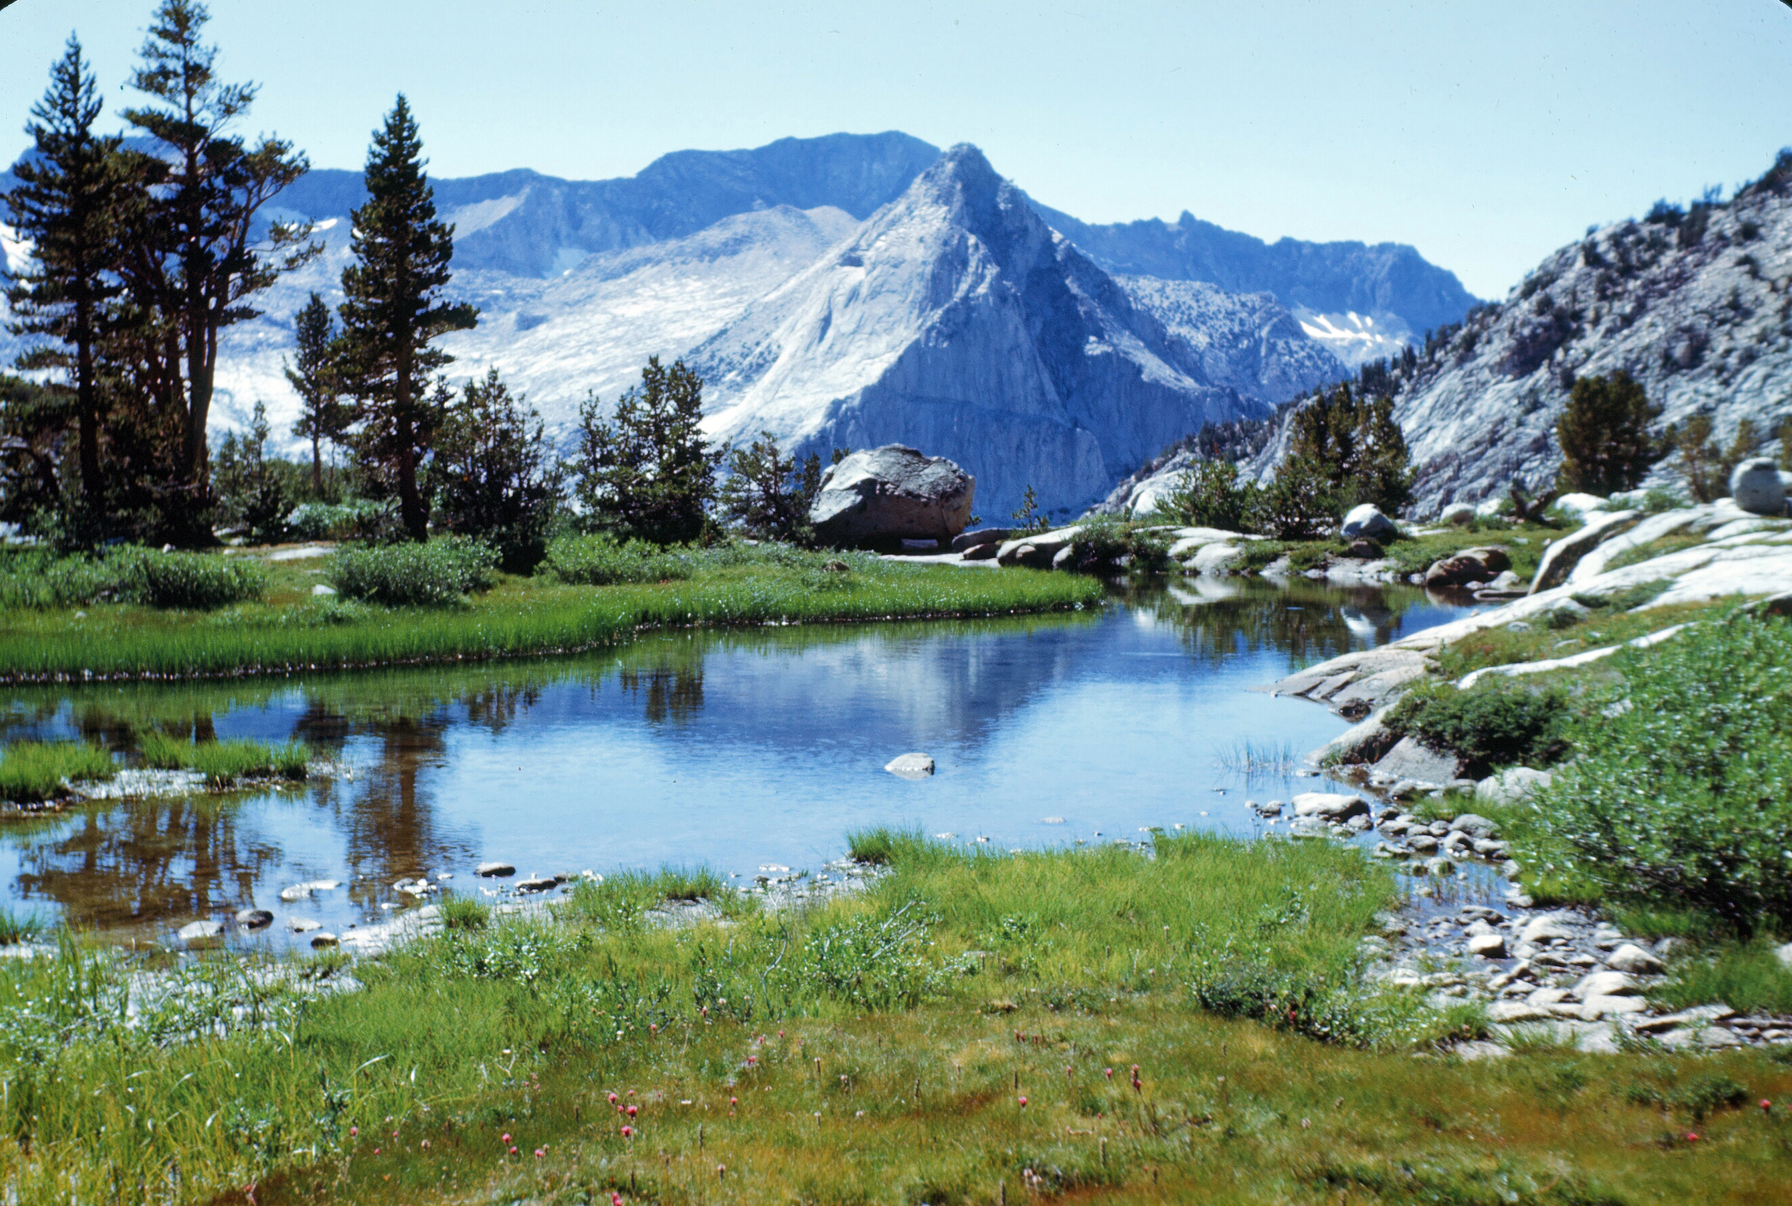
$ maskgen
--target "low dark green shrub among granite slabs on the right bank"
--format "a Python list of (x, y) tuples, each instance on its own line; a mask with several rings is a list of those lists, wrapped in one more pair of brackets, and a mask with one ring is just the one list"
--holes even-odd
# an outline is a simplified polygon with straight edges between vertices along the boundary
[(1432, 749), (1460, 754), (1475, 772), (1548, 763), (1568, 751), (1568, 695), (1489, 677), (1471, 690), (1450, 685), (1407, 692), (1387, 728)]

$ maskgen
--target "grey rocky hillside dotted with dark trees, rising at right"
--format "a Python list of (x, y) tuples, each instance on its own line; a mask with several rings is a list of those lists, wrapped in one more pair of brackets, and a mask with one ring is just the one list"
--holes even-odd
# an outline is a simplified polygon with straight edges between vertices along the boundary
[(1618, 369), (1663, 425), (1708, 412), (1726, 444), (1742, 419), (1765, 443), (1792, 416), (1792, 156), (1729, 202), (1591, 231), (1417, 357), (1394, 410), (1417, 511), (1546, 484), (1573, 380)]

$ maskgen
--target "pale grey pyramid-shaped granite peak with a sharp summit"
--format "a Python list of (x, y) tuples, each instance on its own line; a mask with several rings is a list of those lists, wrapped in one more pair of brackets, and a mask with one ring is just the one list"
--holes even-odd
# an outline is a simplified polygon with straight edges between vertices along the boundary
[(1129, 290), (961, 145), (692, 357), (719, 437), (771, 430), (824, 455), (905, 443), (973, 473), (986, 516), (1027, 486), (1079, 509), (1183, 432), (1337, 371), (1274, 303), (1231, 306), (1238, 337), (1185, 292)]

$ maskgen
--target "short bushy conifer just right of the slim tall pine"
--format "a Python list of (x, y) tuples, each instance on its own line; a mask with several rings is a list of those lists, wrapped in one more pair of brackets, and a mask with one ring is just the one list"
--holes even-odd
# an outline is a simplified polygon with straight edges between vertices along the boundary
[(527, 573), (541, 561), (559, 516), (564, 471), (541, 416), (521, 396), (511, 396), (498, 369), (489, 369), (484, 382), (468, 382), (450, 407), (430, 473), (450, 532), (491, 541), (513, 573)]

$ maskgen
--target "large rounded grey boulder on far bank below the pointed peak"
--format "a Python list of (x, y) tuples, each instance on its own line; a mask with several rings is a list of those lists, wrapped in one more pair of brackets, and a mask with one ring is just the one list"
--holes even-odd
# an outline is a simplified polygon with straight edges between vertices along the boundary
[(824, 545), (876, 547), (903, 539), (948, 545), (969, 523), (975, 491), (977, 478), (952, 461), (885, 444), (830, 466), (808, 521)]

